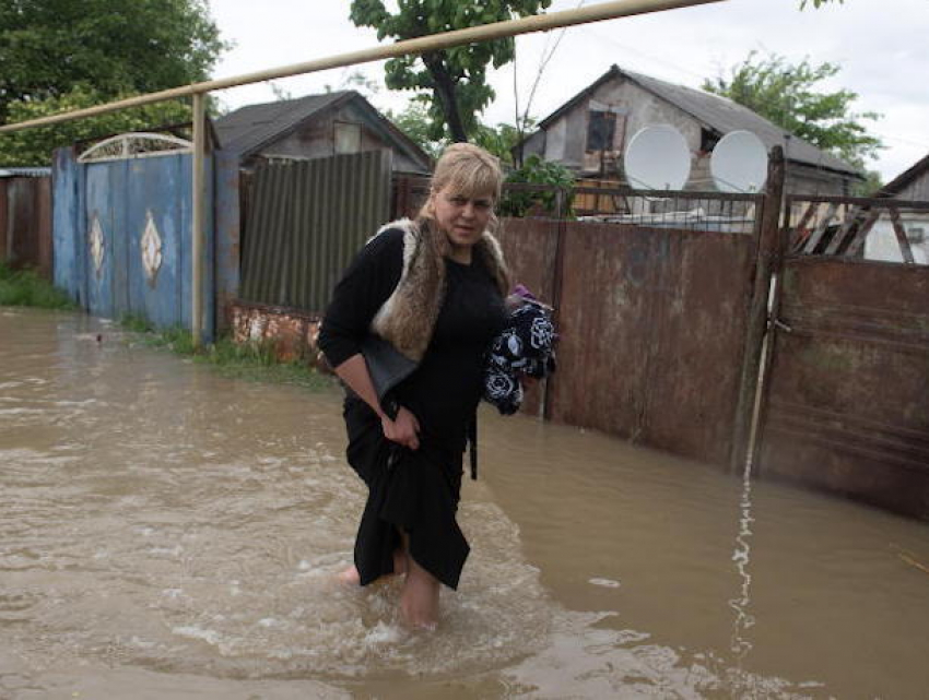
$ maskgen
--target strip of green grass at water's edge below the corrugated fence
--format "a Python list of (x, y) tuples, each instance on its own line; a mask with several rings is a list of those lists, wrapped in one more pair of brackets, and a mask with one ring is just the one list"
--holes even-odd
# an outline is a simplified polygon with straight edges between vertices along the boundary
[(275, 384), (292, 384), (313, 391), (332, 387), (330, 377), (319, 373), (306, 361), (280, 361), (274, 354), (273, 341), (259, 343), (235, 343), (225, 335), (212, 345), (193, 347), (193, 336), (185, 328), (154, 329), (148, 319), (126, 316), (120, 320), (122, 328), (140, 334), (139, 343), (146, 347), (169, 349), (215, 368), (225, 377), (263, 381)]

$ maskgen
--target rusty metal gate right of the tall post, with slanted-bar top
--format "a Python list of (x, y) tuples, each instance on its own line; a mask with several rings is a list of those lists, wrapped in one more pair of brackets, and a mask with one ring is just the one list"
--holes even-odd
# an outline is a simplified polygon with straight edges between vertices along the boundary
[(788, 198), (757, 473), (929, 519), (927, 217), (929, 202)]

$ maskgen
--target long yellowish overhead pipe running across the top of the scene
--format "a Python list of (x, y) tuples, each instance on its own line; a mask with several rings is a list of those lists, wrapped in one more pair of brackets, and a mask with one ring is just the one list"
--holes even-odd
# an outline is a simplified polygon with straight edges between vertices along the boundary
[(428, 51), (450, 48), (452, 46), (461, 46), (463, 44), (490, 41), (519, 34), (545, 32), (565, 26), (587, 24), (589, 22), (600, 22), (602, 20), (614, 20), (618, 17), (660, 12), (662, 10), (675, 10), (679, 8), (725, 1), (726, 0), (614, 0), (613, 2), (603, 2), (601, 4), (587, 8), (565, 10), (563, 12), (553, 12), (551, 14), (539, 14), (529, 17), (521, 17), (519, 20), (508, 20), (506, 22), (494, 22), (493, 24), (456, 29), (454, 32), (445, 32), (443, 34), (433, 34), (430, 36), (418, 37), (415, 39), (405, 39), (388, 46), (376, 46), (358, 51), (351, 51), (349, 54), (339, 54), (328, 58), (306, 61), (303, 63), (293, 63), (282, 68), (272, 68), (257, 73), (237, 75), (235, 78), (224, 78), (203, 83), (193, 83), (191, 85), (185, 85), (184, 87), (163, 90), (161, 92), (129, 97), (128, 99), (120, 99), (105, 105), (97, 105), (96, 107), (75, 109), (48, 117), (40, 117), (38, 119), (30, 119), (19, 123), (4, 124), (0, 127), (0, 133), (19, 131), (22, 129), (34, 129), (36, 127), (47, 127), (49, 124), (70, 121), (72, 119), (103, 115), (118, 109), (125, 109), (127, 107), (139, 107), (140, 105), (163, 102), (165, 99), (190, 97), (192, 95), (203, 94), (215, 90), (226, 90), (228, 87), (247, 85), (249, 83), (260, 83), (267, 80), (287, 78), (290, 75), (314, 73), (317, 71), (329, 70), (331, 68), (356, 66), (358, 63), (368, 63), (371, 61), (379, 61), (386, 58), (396, 58), (398, 56), (409, 56), (412, 54), (425, 54)]

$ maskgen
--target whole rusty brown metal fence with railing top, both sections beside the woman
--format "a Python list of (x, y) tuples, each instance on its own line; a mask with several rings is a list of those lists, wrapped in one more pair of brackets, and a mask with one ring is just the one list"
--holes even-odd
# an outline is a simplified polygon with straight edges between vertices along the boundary
[[(761, 194), (507, 186), (504, 252), (561, 332), (525, 408), (729, 468), (756, 418), (756, 473), (929, 518), (929, 203), (781, 206), (783, 167)], [(427, 191), (395, 179), (393, 216)]]

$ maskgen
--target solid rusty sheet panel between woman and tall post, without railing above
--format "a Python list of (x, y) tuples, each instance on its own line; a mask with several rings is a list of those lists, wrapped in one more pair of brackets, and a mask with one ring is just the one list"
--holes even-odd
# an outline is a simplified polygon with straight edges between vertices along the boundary
[(558, 372), (529, 411), (728, 466), (744, 449), (759, 230), (505, 220), (507, 260), (555, 307), (561, 334)]

